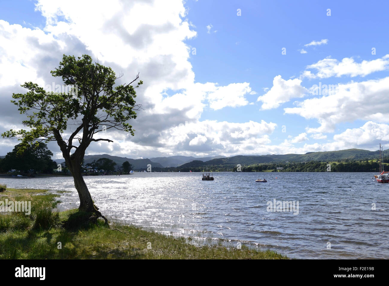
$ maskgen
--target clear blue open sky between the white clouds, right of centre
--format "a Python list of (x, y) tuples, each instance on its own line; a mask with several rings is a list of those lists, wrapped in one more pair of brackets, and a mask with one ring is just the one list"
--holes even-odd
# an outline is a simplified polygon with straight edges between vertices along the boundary
[[(305, 66), (331, 56), (336, 59), (354, 57), (358, 61), (377, 59), (387, 54), (388, 23), (385, 23), (385, 8), (363, 1), (188, 1), (188, 19), (196, 26), (199, 35), (187, 43), (196, 47), (196, 55), (191, 63), (196, 72), (196, 81), (217, 82), (221, 85), (230, 82), (250, 82), (258, 94), (263, 88), (272, 87), (273, 77), (298, 77)], [(236, 8), (242, 9), (238, 17)], [(331, 16), (326, 16), (327, 9)], [(208, 34), (205, 26), (212, 24), (216, 33)], [(202, 31), (200, 31), (200, 27)], [(328, 38), (326, 45), (304, 47), (312, 40)], [(286, 55), (281, 54), (286, 47)], [(376, 55), (371, 48), (376, 47)], [(307, 54), (300, 54), (305, 49)], [(377, 72), (354, 80), (384, 77), (385, 72)], [(347, 82), (350, 78), (329, 78), (328, 84)], [(318, 84), (318, 80), (304, 80), (304, 85)], [(258, 96), (248, 98), (256, 101)], [(293, 106), (292, 102), (282, 107)], [(258, 112), (258, 105), (245, 106), (240, 112), (234, 108), (207, 110), (203, 113), (209, 119), (228, 120), (237, 115), (237, 122), (246, 120), (271, 119), (272, 122), (293, 121), (300, 126), (317, 125), (315, 120), (305, 120), (296, 115), (282, 115), (282, 108)], [(282, 120), (280, 120), (282, 119)], [(286, 123), (285, 123), (286, 124)], [(342, 128), (357, 126), (345, 123)], [(359, 127), (359, 126), (358, 126)]]

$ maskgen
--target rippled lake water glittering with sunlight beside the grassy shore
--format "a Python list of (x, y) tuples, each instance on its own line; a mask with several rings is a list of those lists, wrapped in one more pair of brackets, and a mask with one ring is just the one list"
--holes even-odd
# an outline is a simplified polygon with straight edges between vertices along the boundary
[[(221, 238), (230, 246), (240, 242), (292, 258), (389, 258), (389, 184), (377, 183), (373, 173), (214, 173), (214, 181), (201, 176), (84, 179), (103, 215), (165, 234), (204, 243)], [(256, 183), (257, 178), (268, 182)], [(72, 178), (0, 178), (0, 183), (67, 190), (59, 208), (79, 205)], [(294, 201), (295, 208), (268, 211), (274, 199)]]

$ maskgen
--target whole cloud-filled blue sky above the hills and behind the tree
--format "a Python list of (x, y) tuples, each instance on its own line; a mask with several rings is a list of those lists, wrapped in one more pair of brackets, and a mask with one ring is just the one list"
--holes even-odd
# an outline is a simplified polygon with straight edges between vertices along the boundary
[[(58, 65), (61, 54), (86, 52), (118, 73), (140, 70), (145, 86), (138, 91), (138, 102), (148, 108), (134, 122), (135, 137), (126, 141), (112, 133), (114, 144), (96, 145), (91, 153), (305, 153), (377, 150), (379, 143), (389, 148), (389, 106), (377, 105), (389, 88), (387, 2), (170, 4), (117, 0), (110, 7), (96, 2), (91, 8), (77, 1), (2, 1), (0, 64), (12, 66), (15, 78), (0, 75), (0, 100), (8, 101), (19, 82), (51, 82), (44, 73)], [(82, 14), (83, 9), (93, 10), (87, 14), (95, 17)], [(144, 26), (143, 33), (136, 33)], [(16, 53), (7, 44), (7, 33), (26, 49), (33, 42), (30, 55)], [(131, 42), (134, 38), (143, 44)], [(22, 62), (28, 68), (22, 74), (31, 79), (19, 75)], [(312, 94), (312, 86), (319, 84), (337, 89), (331, 95)], [(182, 127), (185, 122), (206, 125), (207, 132), (193, 134), (187, 125)], [(0, 129), (9, 125), (4, 119)], [(0, 151), (9, 152), (13, 145), (1, 139)]]

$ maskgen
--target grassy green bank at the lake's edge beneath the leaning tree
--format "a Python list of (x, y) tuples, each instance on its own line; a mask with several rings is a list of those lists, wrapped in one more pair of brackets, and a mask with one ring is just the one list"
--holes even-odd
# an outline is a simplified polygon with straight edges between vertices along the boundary
[[(31, 215), (0, 213), (2, 259), (288, 259), (273, 251), (194, 246), (138, 227), (110, 221), (111, 228), (81, 223), (87, 214), (72, 209), (53, 212), (58, 194), (47, 190), (9, 189), (0, 201), (32, 201)], [(60, 242), (60, 243), (59, 243)], [(61, 247), (60, 247), (61, 246)]]

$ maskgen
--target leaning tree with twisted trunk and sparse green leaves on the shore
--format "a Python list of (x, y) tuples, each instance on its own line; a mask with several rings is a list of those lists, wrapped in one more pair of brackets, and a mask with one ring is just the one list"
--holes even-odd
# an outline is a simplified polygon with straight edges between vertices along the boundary
[[(108, 141), (97, 138), (96, 133), (107, 134), (114, 128), (134, 135), (128, 120), (136, 118), (136, 92), (131, 85), (138, 80), (139, 73), (128, 84), (115, 85), (123, 74), (116, 76), (110, 67), (94, 63), (91, 56), (63, 55), (58, 68), (51, 71), (53, 77), (61, 77), (64, 86), (72, 87), (68, 92), (47, 92), (32, 82), (21, 85), (28, 90), (25, 94), (12, 94), (11, 102), (19, 106), (21, 114), (28, 120), (23, 125), (28, 130), (9, 130), (3, 138), (18, 138), (25, 147), (34, 142), (56, 141), (66, 165), (74, 178), (80, 206), (79, 210), (92, 213), (97, 220), (102, 217), (105, 224), (108, 220), (98, 211), (93, 203), (88, 187), (82, 178), (81, 165), (85, 151), (92, 142)], [(139, 80), (136, 87), (143, 82)], [(99, 134), (99, 135), (100, 135)]]

